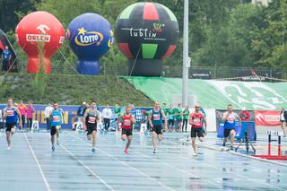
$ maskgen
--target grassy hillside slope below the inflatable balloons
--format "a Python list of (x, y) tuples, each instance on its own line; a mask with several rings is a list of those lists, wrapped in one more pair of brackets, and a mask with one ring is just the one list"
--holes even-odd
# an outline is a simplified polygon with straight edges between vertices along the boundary
[(96, 100), (98, 105), (151, 106), (152, 101), (125, 79), (111, 75), (84, 76), (72, 74), (0, 74), (0, 103), (7, 98), (46, 104), (57, 100), (60, 104), (78, 105), (83, 100)]

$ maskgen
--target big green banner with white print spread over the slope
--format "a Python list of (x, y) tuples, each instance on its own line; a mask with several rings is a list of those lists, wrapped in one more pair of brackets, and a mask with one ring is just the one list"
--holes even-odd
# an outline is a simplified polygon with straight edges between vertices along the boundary
[[(181, 101), (182, 80), (161, 77), (125, 77), (152, 100), (176, 104)], [(278, 110), (287, 108), (286, 82), (235, 82), (188, 80), (188, 105), (200, 103), (208, 109)]]

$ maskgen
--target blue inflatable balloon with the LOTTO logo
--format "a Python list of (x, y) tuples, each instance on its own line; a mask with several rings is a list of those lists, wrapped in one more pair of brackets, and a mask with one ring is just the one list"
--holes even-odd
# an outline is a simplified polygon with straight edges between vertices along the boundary
[(110, 23), (100, 14), (83, 13), (70, 22), (66, 36), (79, 59), (77, 71), (80, 74), (100, 74), (98, 60), (113, 44)]

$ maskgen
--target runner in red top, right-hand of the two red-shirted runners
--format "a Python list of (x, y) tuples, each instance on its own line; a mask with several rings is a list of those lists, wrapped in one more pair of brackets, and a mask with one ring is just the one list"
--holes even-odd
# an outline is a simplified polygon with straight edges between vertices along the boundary
[(192, 148), (194, 149), (194, 156), (197, 156), (197, 145), (196, 145), (196, 135), (199, 138), (199, 141), (204, 141), (204, 131), (203, 131), (203, 121), (204, 129), (206, 131), (206, 118), (204, 114), (200, 111), (200, 105), (195, 105), (195, 111), (189, 116), (189, 124), (191, 125), (190, 137), (192, 142)]

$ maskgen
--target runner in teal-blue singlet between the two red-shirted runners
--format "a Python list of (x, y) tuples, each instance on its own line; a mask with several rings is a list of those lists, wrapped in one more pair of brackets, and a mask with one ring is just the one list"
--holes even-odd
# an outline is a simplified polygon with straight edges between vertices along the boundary
[(162, 139), (162, 118), (165, 120), (165, 128), (167, 128), (167, 118), (164, 115), (163, 110), (160, 108), (160, 102), (154, 102), (154, 108), (150, 111), (149, 122), (152, 128), (152, 144), (153, 144), (153, 153), (157, 152), (157, 143), (155, 137), (158, 137), (158, 140)]

